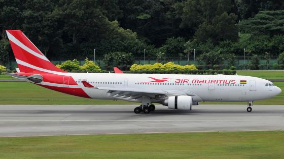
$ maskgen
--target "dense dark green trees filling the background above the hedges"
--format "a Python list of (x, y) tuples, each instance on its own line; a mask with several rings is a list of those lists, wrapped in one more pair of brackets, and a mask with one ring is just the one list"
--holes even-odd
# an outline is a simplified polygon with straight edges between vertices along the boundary
[(244, 48), (268, 60), (284, 51), (283, 1), (2, 0), (0, 21), (0, 64), (14, 59), (5, 29), (21, 29), (51, 60), (93, 59), (96, 49), (107, 65), (113, 52), (162, 62), (195, 49), (206, 64), (233, 65)]

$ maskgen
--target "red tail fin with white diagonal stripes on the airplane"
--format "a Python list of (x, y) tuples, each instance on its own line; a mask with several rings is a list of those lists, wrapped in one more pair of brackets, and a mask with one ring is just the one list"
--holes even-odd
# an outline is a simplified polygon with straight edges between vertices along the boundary
[(65, 72), (55, 67), (21, 30), (6, 30), (20, 72)]

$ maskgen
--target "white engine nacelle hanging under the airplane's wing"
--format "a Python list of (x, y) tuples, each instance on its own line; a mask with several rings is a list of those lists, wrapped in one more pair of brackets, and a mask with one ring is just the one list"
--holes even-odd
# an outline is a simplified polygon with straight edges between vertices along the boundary
[(163, 101), (163, 104), (168, 106), (169, 109), (175, 110), (191, 110), (192, 96), (169, 96), (168, 99)]

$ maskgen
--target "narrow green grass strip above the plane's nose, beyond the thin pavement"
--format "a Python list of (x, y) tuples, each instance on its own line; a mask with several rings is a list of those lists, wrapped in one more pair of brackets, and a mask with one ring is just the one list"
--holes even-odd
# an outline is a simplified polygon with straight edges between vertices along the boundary
[(237, 71), (237, 74), (263, 79), (284, 79), (284, 71)]

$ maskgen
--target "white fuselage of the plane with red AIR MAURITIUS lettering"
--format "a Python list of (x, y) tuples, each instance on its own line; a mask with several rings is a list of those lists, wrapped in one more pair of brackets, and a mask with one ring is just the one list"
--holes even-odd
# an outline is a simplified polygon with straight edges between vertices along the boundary
[[(72, 76), (79, 87), (91, 98), (96, 99), (127, 100), (123, 97), (109, 96), (107, 90), (86, 88), (82, 80), (94, 87), (146, 89), (153, 92), (164, 90), (176, 92), (176, 94), (182, 92), (193, 96), (193, 101), (254, 101), (269, 98), (281, 92), (281, 89), (273, 86), (270, 81), (250, 76), (111, 73), (66, 73), (66, 75)], [(270, 86), (266, 86), (267, 84)]]

